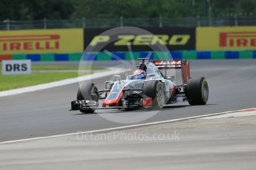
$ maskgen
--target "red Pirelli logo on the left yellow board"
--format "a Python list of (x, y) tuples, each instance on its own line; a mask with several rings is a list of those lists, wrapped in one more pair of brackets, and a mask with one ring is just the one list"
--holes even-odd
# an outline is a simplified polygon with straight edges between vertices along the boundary
[(2, 52), (59, 50), (60, 35), (0, 35)]

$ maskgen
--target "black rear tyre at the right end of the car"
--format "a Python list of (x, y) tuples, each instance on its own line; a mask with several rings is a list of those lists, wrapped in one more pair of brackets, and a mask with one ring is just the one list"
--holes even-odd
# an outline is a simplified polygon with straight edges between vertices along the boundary
[(186, 96), (190, 105), (205, 105), (209, 96), (209, 87), (206, 78), (188, 79)]

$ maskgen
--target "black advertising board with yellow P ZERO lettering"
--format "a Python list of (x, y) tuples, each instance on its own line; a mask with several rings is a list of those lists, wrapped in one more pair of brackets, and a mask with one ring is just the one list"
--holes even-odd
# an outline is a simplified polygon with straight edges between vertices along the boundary
[[(157, 45), (168, 50), (195, 50), (195, 28), (151, 28), (145, 29), (152, 34), (121, 33), (101, 35), (104, 29), (85, 29), (85, 47), (90, 51), (98, 51), (96, 47), (108, 51), (149, 51)], [(101, 50), (102, 50), (101, 49)]]

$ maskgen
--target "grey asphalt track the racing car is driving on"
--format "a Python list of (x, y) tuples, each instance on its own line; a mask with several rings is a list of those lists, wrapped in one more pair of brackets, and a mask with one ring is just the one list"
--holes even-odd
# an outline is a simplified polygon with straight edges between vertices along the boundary
[[(206, 106), (180, 103), (138, 123), (255, 107), (256, 60), (191, 61), (191, 77), (200, 76), (206, 77), (209, 83), (209, 102)], [(102, 82), (109, 78), (100, 78), (93, 82), (102, 88)], [(78, 86), (79, 84), (70, 84), (0, 98), (0, 141), (126, 126), (128, 124), (115, 123), (103, 116), (129, 118), (142, 113), (150, 114), (146, 110), (108, 110), (91, 115), (69, 112), (70, 101), (76, 99)]]

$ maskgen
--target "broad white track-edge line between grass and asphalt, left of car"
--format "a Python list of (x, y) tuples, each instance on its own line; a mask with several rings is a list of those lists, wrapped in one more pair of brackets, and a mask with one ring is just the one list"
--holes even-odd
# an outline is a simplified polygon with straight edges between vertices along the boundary
[(112, 69), (111, 67), (108, 69), (110, 69), (110, 70), (109, 71), (102, 70), (102, 72), (96, 72), (96, 73), (93, 73), (92, 75), (84, 75), (84, 76), (80, 76), (77, 78), (68, 78), (68, 79), (65, 79), (62, 81), (53, 81), (53, 82), (50, 82), (47, 84), (39, 84), (36, 86), (27, 86), (27, 87), (23, 87), (23, 88), (19, 88), (19, 89), (5, 90), (5, 91), (0, 92), (0, 97), (9, 96), (9, 95), (19, 95), (24, 92), (35, 92), (35, 91), (42, 90), (42, 89), (50, 89), (50, 88), (57, 87), (57, 86), (65, 86), (68, 84), (75, 84), (77, 82), (88, 81), (88, 80), (92, 80), (92, 79), (96, 79), (96, 78), (103, 78), (105, 76), (121, 74), (121, 73), (127, 71), (126, 69), (121, 69), (121, 68), (116, 68), (116, 67), (114, 69)]

